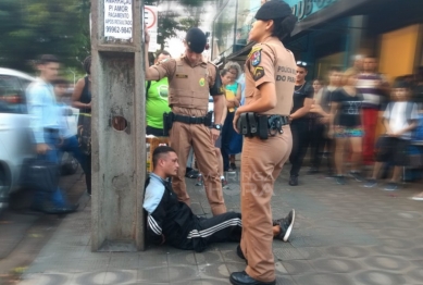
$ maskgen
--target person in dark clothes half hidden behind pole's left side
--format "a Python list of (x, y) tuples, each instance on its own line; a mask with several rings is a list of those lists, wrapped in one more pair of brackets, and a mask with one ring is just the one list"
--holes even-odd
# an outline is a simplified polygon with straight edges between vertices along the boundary
[(86, 76), (79, 78), (72, 95), (72, 106), (79, 109), (78, 140), (83, 157), (87, 194), (91, 196), (91, 57), (84, 60)]

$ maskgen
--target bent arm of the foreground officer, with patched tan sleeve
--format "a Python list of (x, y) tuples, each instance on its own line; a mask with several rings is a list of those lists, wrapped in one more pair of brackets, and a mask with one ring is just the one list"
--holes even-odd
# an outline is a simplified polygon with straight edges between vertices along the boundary
[(256, 80), (256, 88), (260, 90), (260, 100), (254, 100), (249, 104), (238, 108), (237, 113), (246, 112), (266, 112), (276, 107), (276, 87), (275, 87), (275, 54), (270, 48), (263, 46), (254, 55), (254, 64), (248, 60), (248, 71)]

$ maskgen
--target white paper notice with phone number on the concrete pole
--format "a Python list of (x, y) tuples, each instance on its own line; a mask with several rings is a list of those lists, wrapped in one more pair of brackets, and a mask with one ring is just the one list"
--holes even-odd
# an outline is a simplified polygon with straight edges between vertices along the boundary
[(133, 37), (133, 0), (104, 0), (104, 37)]

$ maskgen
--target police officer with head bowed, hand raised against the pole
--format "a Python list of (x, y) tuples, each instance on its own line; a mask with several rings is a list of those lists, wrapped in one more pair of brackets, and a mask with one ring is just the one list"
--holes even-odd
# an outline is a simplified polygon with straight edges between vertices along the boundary
[[(146, 29), (147, 30), (147, 29)], [(146, 46), (149, 35), (146, 32)], [(214, 101), (214, 121), (222, 122), (224, 96), (217, 67), (202, 57), (207, 44), (204, 33), (190, 28), (184, 40), (185, 54), (171, 59), (160, 65), (147, 66), (148, 80), (169, 79), (169, 104), (174, 114), (170, 131), (171, 147), (179, 157), (179, 164), (186, 165), (189, 149), (192, 147), (197, 164), (203, 175), (207, 198), (213, 215), (226, 212), (222, 184), (217, 173), (217, 159), (214, 141), (219, 138), (222, 125), (208, 125), (207, 114), (209, 94)], [(147, 64), (146, 47), (146, 64)], [(211, 121), (211, 117), (210, 117)], [(189, 195), (185, 185), (185, 168), (179, 168), (173, 177), (173, 189), (181, 201), (189, 205)]]

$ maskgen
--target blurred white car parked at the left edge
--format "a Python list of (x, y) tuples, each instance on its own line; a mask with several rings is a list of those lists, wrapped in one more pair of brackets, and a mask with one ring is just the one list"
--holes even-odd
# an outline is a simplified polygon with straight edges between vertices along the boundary
[[(0, 67), (0, 209), (7, 206), (10, 193), (16, 189), (23, 160), (35, 156), (25, 96), (26, 87), (35, 79), (25, 73)], [(79, 111), (72, 110), (67, 125), (76, 135)], [(69, 156), (64, 156), (62, 165), (64, 160), (67, 163)]]

